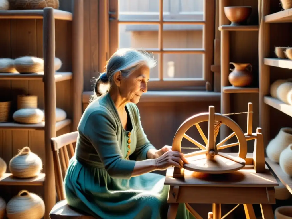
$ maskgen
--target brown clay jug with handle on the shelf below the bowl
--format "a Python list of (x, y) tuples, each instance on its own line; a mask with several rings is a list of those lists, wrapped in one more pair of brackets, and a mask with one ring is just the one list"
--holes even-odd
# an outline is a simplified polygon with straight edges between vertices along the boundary
[[(232, 64), (235, 67), (234, 69), (230, 69), (232, 72), (228, 75), (230, 84), (234, 87), (244, 87), (251, 84), (253, 79), (253, 75), (251, 74), (251, 64), (234, 62), (230, 62), (229, 64)], [(250, 69), (248, 69), (248, 67)]]

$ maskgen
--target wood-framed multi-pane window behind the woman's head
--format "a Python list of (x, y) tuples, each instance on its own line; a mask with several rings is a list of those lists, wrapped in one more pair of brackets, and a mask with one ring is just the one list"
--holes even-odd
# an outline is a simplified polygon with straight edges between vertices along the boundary
[[(206, 2), (208, 1), (208, 5)], [(215, 0), (110, 0), (109, 52), (152, 52), (149, 90), (198, 90), (213, 84)]]

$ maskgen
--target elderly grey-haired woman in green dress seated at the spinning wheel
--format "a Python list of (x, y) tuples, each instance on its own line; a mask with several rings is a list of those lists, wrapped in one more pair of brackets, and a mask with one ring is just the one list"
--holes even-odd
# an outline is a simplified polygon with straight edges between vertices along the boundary
[[(186, 159), (147, 139), (136, 103), (147, 92), (149, 54), (120, 49), (108, 60), (95, 83), (95, 95), (79, 122), (75, 156), (65, 177), (69, 206), (100, 218), (166, 218), (165, 177), (150, 173), (181, 167)], [(100, 85), (109, 90), (101, 93)], [(176, 218), (193, 218), (180, 204)]]

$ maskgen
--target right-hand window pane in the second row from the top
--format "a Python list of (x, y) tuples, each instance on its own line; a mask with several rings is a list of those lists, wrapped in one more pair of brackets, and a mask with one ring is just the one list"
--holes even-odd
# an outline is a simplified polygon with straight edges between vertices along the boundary
[(203, 25), (164, 24), (163, 48), (203, 48)]

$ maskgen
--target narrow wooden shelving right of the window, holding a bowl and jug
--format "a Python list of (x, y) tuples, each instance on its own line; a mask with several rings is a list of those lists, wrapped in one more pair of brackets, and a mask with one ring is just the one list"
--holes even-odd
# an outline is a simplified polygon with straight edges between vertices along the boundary
[[(224, 7), (230, 6), (228, 0), (219, 0), (219, 27), (221, 51), (220, 51), (220, 72), (221, 72), (221, 114), (230, 113), (231, 93), (258, 93), (258, 88), (234, 87), (230, 86), (228, 75), (230, 73), (230, 31), (258, 31), (258, 25), (230, 26), (230, 21), (226, 18)], [(242, 62), (245, 62), (244, 60)], [(227, 126), (220, 128), (220, 139), (227, 137)]]

